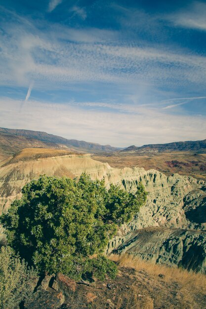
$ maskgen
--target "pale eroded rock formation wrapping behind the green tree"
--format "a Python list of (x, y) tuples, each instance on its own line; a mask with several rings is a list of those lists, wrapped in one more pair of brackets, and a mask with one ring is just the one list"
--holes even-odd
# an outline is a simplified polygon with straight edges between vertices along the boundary
[[(148, 254), (147, 259), (151, 256), (151, 259), (158, 263), (170, 263), (172, 265), (183, 263), (185, 266), (186, 262), (182, 261), (185, 252), (189, 250), (186, 248), (189, 241), (192, 248), (196, 248), (196, 246), (201, 248), (202, 256), (204, 257), (205, 254), (205, 260), (201, 259), (206, 261), (205, 236), (203, 237), (205, 233), (199, 232), (200, 236), (197, 237), (197, 232), (192, 231), (192, 229), (206, 231), (206, 183), (192, 177), (178, 174), (166, 176), (156, 170), (146, 171), (138, 167), (132, 169), (127, 167), (123, 169), (112, 168), (107, 163), (91, 159), (89, 155), (56, 156), (10, 164), (7, 162), (0, 167), (0, 211), (7, 211), (11, 200), (21, 195), (21, 188), (41, 174), (74, 178), (79, 177), (84, 171), (92, 179), (104, 178), (108, 187), (110, 183), (114, 183), (130, 192), (135, 192), (138, 183), (141, 181), (148, 192), (146, 204), (141, 207), (140, 212), (129, 224), (121, 227), (117, 236), (110, 241), (107, 254), (118, 249), (118, 252), (128, 252), (143, 257), (145, 248), (148, 247), (148, 250), (151, 251), (151, 244), (154, 243), (156, 253), (154, 254), (151, 251), (151, 255)], [(151, 232), (152, 234), (144, 237), (142, 244), (144, 243), (145, 247), (143, 248), (143, 245), (141, 245), (143, 238), (138, 238), (138, 230), (148, 227), (159, 229), (158, 232), (155, 230), (155, 232)], [(174, 229), (190, 231), (183, 237), (179, 230), (180, 234), (178, 234), (179, 236), (175, 234), (175, 238)], [(160, 235), (162, 236), (160, 237)], [(193, 241), (187, 240), (193, 237), (192, 235), (194, 236)], [(150, 237), (153, 239), (152, 242)], [(200, 240), (201, 237), (204, 240)], [(169, 242), (169, 245), (165, 245), (166, 239), (172, 240), (174, 246), (179, 246), (178, 258), (171, 253), (174, 249), (174, 246), (170, 245), (171, 242)], [(132, 246), (126, 245), (128, 241)], [(197, 250), (194, 249), (194, 251)], [(188, 259), (189, 256), (190, 254)], [(197, 258), (199, 259), (199, 256)], [(204, 261), (201, 262), (201, 270), (204, 269)]]

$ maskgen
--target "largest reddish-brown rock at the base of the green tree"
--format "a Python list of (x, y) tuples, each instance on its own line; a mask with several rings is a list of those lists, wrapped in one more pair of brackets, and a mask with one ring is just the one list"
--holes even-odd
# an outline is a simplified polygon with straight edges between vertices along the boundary
[(70, 297), (76, 291), (77, 283), (75, 280), (67, 277), (63, 273), (58, 273), (56, 281), (59, 286), (59, 290), (63, 292), (66, 297)]

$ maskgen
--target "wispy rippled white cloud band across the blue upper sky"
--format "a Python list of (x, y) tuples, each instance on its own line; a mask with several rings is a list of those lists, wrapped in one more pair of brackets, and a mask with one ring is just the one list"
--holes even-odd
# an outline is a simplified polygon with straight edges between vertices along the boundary
[[(15, 20), (18, 17), (15, 17)], [(145, 17), (144, 17), (145, 18)], [(183, 91), (206, 86), (206, 58), (162, 44), (128, 44), (124, 31), (75, 29), (21, 18), (2, 23), (1, 85), (59, 89), (72, 83), (114, 83), (119, 87), (167, 87)], [(41, 28), (41, 31), (39, 30)]]

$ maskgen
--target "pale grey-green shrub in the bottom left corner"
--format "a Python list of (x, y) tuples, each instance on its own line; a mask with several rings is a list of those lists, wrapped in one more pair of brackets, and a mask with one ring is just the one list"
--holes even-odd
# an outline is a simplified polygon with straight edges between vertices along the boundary
[(36, 275), (10, 247), (0, 249), (0, 309), (13, 308), (32, 293), (31, 279)]

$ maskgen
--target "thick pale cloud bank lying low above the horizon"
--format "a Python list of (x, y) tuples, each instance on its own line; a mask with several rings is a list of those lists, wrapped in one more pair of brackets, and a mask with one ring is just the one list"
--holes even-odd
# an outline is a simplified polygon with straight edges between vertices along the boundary
[(94, 109), (85, 111), (78, 102), (51, 104), (29, 100), (19, 113), (20, 105), (21, 100), (0, 98), (1, 126), (120, 147), (206, 138), (206, 116), (170, 115), (157, 107), (136, 107), (131, 114), (107, 109), (99, 113)]

